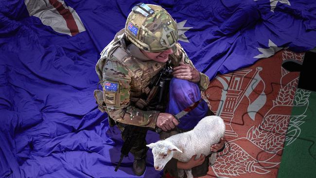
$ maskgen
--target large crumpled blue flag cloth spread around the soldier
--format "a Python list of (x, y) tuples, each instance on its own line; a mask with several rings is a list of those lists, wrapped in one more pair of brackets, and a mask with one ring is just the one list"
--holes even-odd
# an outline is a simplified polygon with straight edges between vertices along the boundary
[[(139, 0), (60, 1), (32, 1), (29, 10), (23, 0), (0, 3), (0, 177), (136, 177), (131, 155), (114, 172), (120, 132), (108, 127), (93, 90), (99, 53)], [(184, 33), (189, 43), (180, 43), (196, 68), (212, 79), (281, 48), (303, 52), (316, 46), (316, 1), (289, 1), (277, 1), (273, 11), (270, 0), (145, 2), (162, 5), (177, 22), (186, 20), (184, 27), (193, 27)], [(38, 2), (50, 9), (35, 10)], [(67, 14), (72, 9), (76, 13)], [(67, 25), (38, 18), (44, 12), (62, 14)], [(76, 17), (85, 29), (80, 33), (73, 30), (80, 26)], [(149, 132), (147, 142), (156, 140), (158, 135)], [(151, 152), (147, 162), (142, 177), (158, 178)]]

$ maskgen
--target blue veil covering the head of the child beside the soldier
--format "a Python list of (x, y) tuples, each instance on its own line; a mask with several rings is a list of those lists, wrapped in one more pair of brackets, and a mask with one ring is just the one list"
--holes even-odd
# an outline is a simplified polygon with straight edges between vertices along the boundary
[[(201, 93), (197, 84), (187, 80), (172, 78), (170, 81), (169, 103), (166, 112), (176, 115), (200, 99)], [(184, 130), (194, 128), (206, 115), (208, 110), (208, 104), (203, 100), (197, 107), (179, 119), (180, 124), (177, 125), (177, 127)]]

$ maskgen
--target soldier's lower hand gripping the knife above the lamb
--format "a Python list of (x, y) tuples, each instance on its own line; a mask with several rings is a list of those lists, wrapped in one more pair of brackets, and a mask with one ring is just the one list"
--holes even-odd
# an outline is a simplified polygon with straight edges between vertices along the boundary
[(173, 128), (175, 128), (176, 125), (178, 125), (179, 122), (176, 120), (176, 118), (169, 113), (159, 113), (156, 125), (161, 128), (163, 131), (168, 131)]

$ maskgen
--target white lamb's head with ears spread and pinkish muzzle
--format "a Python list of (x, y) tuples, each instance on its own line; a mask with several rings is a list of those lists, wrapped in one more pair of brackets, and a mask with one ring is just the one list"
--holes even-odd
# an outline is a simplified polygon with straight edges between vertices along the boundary
[(154, 155), (154, 167), (157, 171), (161, 171), (166, 163), (172, 159), (175, 151), (182, 153), (182, 151), (173, 145), (171, 142), (162, 140), (156, 143), (147, 144), (149, 148), (152, 148)]

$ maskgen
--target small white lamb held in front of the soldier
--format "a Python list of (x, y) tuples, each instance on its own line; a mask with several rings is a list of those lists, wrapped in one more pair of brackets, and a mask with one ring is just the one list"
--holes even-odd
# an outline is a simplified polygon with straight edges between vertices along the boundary
[[(173, 135), (165, 140), (147, 144), (152, 148), (154, 167), (161, 171), (166, 163), (175, 158), (182, 162), (189, 161), (193, 155), (211, 154), (211, 145), (218, 143), (225, 134), (225, 124), (218, 116), (204, 117), (194, 128), (188, 132)], [(196, 158), (198, 159), (198, 158)], [(212, 153), (210, 164), (213, 165), (216, 153)], [(187, 178), (193, 178), (192, 170), (184, 170)], [(184, 176), (183, 170), (178, 170), (180, 178)]]

